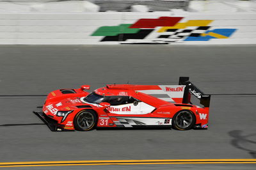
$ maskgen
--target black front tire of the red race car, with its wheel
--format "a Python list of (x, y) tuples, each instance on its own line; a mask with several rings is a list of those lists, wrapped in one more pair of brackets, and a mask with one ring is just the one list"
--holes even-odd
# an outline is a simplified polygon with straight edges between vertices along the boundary
[(97, 114), (92, 110), (83, 110), (76, 114), (74, 127), (79, 131), (93, 130), (98, 122)]

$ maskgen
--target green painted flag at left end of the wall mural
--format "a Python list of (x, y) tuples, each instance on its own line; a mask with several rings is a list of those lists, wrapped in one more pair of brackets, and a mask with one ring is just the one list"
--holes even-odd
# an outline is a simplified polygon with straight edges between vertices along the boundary
[(129, 28), (132, 24), (120, 24), (119, 26), (99, 27), (92, 36), (116, 36), (118, 34), (138, 33), (139, 28)]

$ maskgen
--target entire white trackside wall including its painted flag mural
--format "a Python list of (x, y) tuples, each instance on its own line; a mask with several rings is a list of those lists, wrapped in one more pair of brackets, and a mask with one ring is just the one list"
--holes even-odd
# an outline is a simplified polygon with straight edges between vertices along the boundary
[(0, 44), (255, 44), (256, 13), (0, 13)]

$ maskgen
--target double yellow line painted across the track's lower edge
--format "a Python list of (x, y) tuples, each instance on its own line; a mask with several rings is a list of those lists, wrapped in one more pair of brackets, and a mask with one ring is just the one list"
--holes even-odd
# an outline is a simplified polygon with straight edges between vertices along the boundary
[[(197, 161), (197, 162), (195, 162)], [(225, 162), (229, 161), (229, 162)], [(250, 162), (251, 161), (251, 162)], [(256, 159), (164, 159), (164, 160), (68, 160), (40, 162), (1, 162), (0, 167), (99, 166), (139, 164), (256, 164)]]

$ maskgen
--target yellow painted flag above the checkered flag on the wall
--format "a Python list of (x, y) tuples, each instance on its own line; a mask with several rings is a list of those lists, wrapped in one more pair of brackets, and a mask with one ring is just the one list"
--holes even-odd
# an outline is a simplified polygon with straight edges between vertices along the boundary
[(208, 26), (213, 20), (188, 20), (188, 22), (177, 23), (175, 26), (172, 27), (161, 27), (157, 32), (163, 33), (167, 29), (185, 29), (186, 27), (204, 27)]

